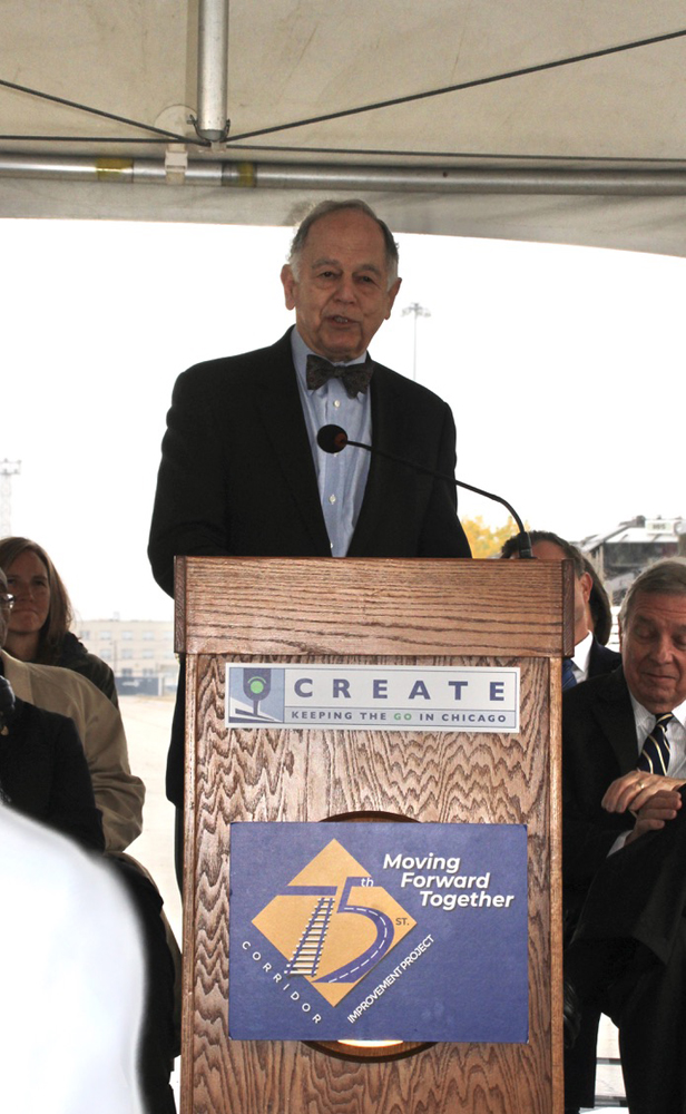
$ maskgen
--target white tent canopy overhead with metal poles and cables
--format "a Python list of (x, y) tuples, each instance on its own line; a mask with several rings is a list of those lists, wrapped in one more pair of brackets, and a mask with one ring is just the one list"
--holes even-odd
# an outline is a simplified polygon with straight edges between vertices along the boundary
[(0, 216), (280, 225), (341, 192), (398, 232), (685, 255), (679, 32), (680, 0), (4, 0)]

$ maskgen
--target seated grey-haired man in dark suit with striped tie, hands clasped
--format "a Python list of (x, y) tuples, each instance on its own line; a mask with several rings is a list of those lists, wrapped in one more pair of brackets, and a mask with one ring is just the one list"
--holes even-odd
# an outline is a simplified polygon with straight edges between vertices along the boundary
[(608, 1013), (633, 1114), (683, 1114), (686, 560), (635, 580), (620, 638), (623, 668), (565, 694), (566, 1020)]

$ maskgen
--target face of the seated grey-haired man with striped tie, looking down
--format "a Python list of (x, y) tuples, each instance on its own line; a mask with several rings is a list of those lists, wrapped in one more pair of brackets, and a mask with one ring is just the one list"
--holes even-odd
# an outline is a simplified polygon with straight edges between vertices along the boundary
[(686, 596), (638, 592), (620, 631), (624, 675), (656, 715), (686, 700)]

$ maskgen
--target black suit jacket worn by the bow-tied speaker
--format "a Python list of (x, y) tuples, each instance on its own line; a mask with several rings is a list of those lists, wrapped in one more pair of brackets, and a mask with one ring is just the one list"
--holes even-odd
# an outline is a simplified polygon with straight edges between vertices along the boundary
[[(452, 476), (450, 408), (376, 364), (374, 444)], [(347, 451), (363, 451), (353, 450)], [(350, 557), (469, 557), (451, 485), (372, 457)], [(327, 557), (290, 331), (271, 348), (197, 364), (174, 388), (148, 554), (169, 594), (175, 555)]]

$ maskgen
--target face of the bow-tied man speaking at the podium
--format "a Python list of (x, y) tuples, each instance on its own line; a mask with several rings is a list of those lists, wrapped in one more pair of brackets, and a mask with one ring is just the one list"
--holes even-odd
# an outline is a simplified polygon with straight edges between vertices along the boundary
[(400, 289), (396, 278), (389, 290), (381, 228), (357, 209), (315, 221), (300, 257), (298, 277), (286, 264), (281, 281), (305, 344), (332, 362), (354, 360), (366, 351), (390, 317)]

